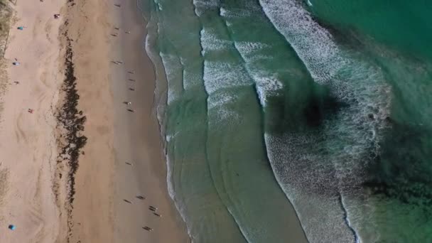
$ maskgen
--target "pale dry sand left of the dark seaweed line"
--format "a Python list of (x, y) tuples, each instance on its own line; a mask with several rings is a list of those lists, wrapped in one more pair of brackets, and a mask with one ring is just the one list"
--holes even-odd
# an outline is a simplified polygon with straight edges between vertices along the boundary
[[(59, 72), (61, 19), (53, 14), (65, 1), (18, 0), (16, 24), (5, 53), (8, 92), (0, 124), (1, 242), (55, 242), (60, 224), (53, 185), (58, 155), (53, 107), (63, 80)], [(18, 26), (26, 26), (23, 31)], [(14, 58), (21, 65), (13, 66)], [(18, 85), (14, 82), (20, 82)], [(28, 109), (34, 109), (33, 114)], [(16, 225), (11, 231), (9, 224)]]

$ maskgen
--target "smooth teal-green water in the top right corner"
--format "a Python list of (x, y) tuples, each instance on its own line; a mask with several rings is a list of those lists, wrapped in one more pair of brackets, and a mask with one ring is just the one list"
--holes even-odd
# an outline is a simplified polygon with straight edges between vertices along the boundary
[(432, 58), (432, 5), (429, 1), (311, 2), (311, 12), (342, 33), (360, 33), (401, 54)]

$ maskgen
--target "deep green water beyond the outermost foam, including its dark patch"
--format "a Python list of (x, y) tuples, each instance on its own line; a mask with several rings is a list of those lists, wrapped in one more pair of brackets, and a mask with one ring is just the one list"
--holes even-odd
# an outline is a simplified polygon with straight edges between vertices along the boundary
[[(367, 183), (376, 198), (365, 242), (431, 242), (432, 4), (312, 1), (311, 12), (377, 63), (392, 86), (390, 121)], [(369, 214), (370, 213), (370, 214)], [(366, 221), (366, 220), (365, 220)], [(366, 222), (365, 222), (366, 224)], [(360, 231), (362, 233), (362, 231)]]

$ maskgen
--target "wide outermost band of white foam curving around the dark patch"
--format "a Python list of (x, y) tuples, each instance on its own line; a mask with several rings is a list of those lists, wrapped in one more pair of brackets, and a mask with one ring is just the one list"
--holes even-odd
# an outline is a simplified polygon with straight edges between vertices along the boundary
[[(323, 189), (329, 190), (330, 195), (340, 193), (344, 200), (355, 190), (350, 186), (362, 182), (365, 156), (379, 149), (377, 144), (389, 112), (389, 87), (378, 68), (362, 60), (358, 53), (340, 48), (299, 1), (260, 0), (260, 4), (276, 29), (296, 50), (315, 82), (328, 85), (340, 102), (348, 104), (333, 119), (325, 121), (325, 129), (320, 134), (280, 137), (266, 134), (276, 178), (296, 207), (311, 242), (352, 242), (354, 237), (340, 205), (323, 200), (319, 193)], [(369, 114), (375, 119), (369, 119)], [(327, 153), (313, 151), (313, 148)], [(307, 165), (307, 169), (296, 166), (298, 164)], [(325, 211), (314, 211), (314, 208)], [(335, 217), (325, 217), (328, 212)], [(314, 222), (311, 217), (322, 218), (322, 221)], [(347, 217), (347, 222), (355, 228), (351, 214)]]

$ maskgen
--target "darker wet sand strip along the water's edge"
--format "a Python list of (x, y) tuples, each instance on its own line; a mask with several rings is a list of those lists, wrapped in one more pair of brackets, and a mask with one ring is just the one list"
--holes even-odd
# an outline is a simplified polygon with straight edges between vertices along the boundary
[[(117, 217), (119, 220), (117, 222), (119, 224), (118, 228), (120, 228), (120, 225), (130, 223), (129, 219), (134, 213), (141, 212), (144, 222), (138, 219), (136, 223), (141, 221), (146, 226), (154, 228), (153, 233), (155, 233), (144, 234), (146, 241), (190, 242), (185, 223), (176, 210), (173, 200), (168, 195), (166, 160), (163, 153), (161, 127), (157, 119), (157, 107), (154, 107), (157, 105), (157, 102), (155, 102), (156, 70), (148, 53), (146, 53), (147, 23), (137, 6), (137, 2), (134, 0), (123, 2), (117, 12), (119, 17), (117, 18), (117, 25), (119, 25), (121, 32), (130, 31), (131, 33), (119, 35), (117, 41), (121, 43), (122, 47), (114, 56), (115, 58), (121, 57), (120, 59), (124, 61), (126, 71), (134, 70), (134, 74), (124, 72), (126, 75), (121, 75), (121, 73), (117, 72), (116, 77), (115, 70), (119, 67), (116, 65), (112, 67), (113, 76), (116, 77), (112, 80), (113, 87), (115, 90), (122, 90), (114, 93), (114, 100), (117, 99), (117, 105), (114, 109), (119, 114), (128, 115), (125, 114), (127, 113), (126, 107), (121, 103), (124, 99), (132, 102), (131, 107), (135, 109), (134, 119), (126, 122), (117, 119), (117, 124), (114, 124), (114, 126), (117, 126), (116, 131), (118, 132), (117, 134), (114, 132), (117, 144), (129, 144), (129, 146), (123, 146), (124, 149), (119, 149), (117, 153), (118, 171), (124, 168), (122, 160), (125, 158), (134, 161), (136, 163), (134, 168), (138, 169), (137, 171), (134, 169), (136, 180), (118, 183), (117, 191), (120, 192), (119, 195), (122, 193), (124, 195), (125, 189), (132, 187), (134, 191), (144, 193), (147, 197), (146, 201), (148, 200), (144, 204), (147, 207), (149, 205), (158, 207), (158, 213), (163, 215), (163, 219), (158, 219), (158, 217), (154, 217), (148, 208), (142, 208), (142, 211), (130, 210), (128, 213)], [(133, 44), (130, 45), (131, 43)], [(132, 53), (134, 54), (132, 55)], [(124, 85), (122, 80), (128, 80), (126, 81), (128, 84)], [(129, 88), (133, 88), (134, 91), (128, 90)], [(137, 107), (139, 109), (136, 109)], [(123, 131), (129, 131), (129, 138), (124, 136)], [(143, 163), (140, 163), (140, 161)], [(126, 170), (124, 172), (123, 175), (118, 174), (119, 178), (129, 177), (130, 171)], [(122, 207), (122, 205), (119, 205), (119, 207)], [(116, 210), (116, 212), (120, 212), (120, 210)], [(128, 230), (119, 233), (117, 239), (128, 239), (125, 236), (135, 232), (132, 230), (133, 225), (124, 227)], [(170, 232), (170, 234), (165, 234), (166, 231)]]

